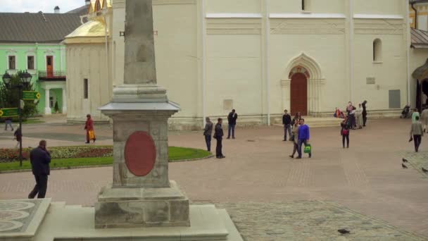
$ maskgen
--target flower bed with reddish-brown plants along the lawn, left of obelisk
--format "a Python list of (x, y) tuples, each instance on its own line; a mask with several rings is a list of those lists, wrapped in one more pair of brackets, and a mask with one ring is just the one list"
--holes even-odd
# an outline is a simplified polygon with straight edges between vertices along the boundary
[[(52, 159), (73, 159), (88, 157), (113, 156), (113, 147), (80, 146), (80, 147), (51, 147)], [(24, 159), (30, 157), (30, 148), (23, 149)], [(0, 162), (11, 162), (19, 160), (19, 149), (0, 149)]]

